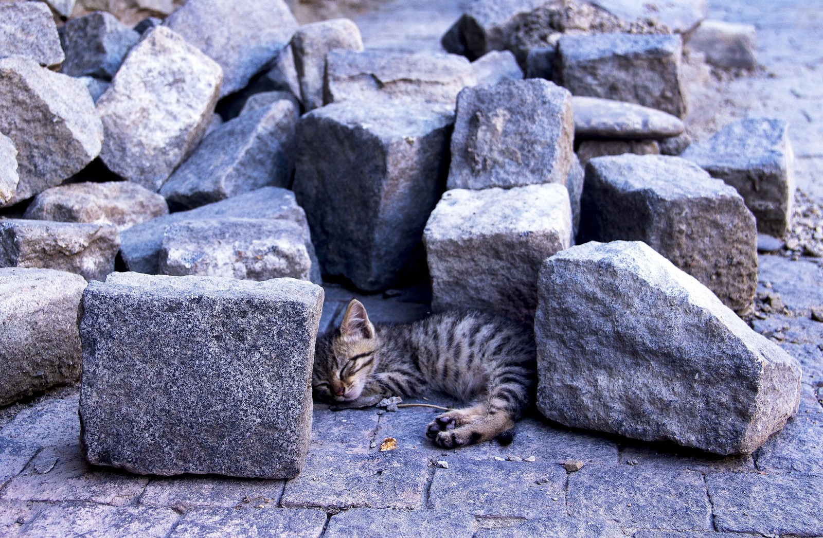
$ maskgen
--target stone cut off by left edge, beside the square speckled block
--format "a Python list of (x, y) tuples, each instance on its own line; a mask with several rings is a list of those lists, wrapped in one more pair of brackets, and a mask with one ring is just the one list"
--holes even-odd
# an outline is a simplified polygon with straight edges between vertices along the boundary
[(77, 306), (86, 281), (50, 269), (0, 269), (0, 406), (80, 377)]

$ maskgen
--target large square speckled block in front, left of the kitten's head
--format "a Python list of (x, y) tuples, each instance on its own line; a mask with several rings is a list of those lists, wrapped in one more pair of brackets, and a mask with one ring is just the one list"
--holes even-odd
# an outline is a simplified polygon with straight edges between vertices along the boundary
[(138, 474), (282, 479), (305, 463), (323, 289), (116, 273), (86, 288), (86, 458)]

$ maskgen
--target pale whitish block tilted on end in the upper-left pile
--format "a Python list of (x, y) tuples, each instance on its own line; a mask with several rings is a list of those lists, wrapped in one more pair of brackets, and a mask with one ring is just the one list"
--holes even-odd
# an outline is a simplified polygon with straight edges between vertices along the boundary
[(124, 179), (160, 189), (206, 133), (220, 87), (211, 58), (168, 28), (149, 30), (97, 101), (100, 159)]

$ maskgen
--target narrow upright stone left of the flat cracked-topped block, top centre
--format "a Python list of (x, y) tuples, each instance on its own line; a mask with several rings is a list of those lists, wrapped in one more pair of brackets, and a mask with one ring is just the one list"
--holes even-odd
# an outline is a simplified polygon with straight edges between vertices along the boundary
[(326, 54), (335, 49), (363, 50), (357, 25), (348, 19), (320, 21), (300, 28), (291, 38), (300, 97), (306, 110), (323, 106)]

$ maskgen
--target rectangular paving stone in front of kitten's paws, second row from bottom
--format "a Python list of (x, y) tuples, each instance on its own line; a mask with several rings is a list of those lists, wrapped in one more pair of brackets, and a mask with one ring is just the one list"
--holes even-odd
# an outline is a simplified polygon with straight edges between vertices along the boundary
[(566, 472), (554, 463), (443, 458), (449, 468), (435, 471), (428, 508), (475, 517), (565, 515)]

